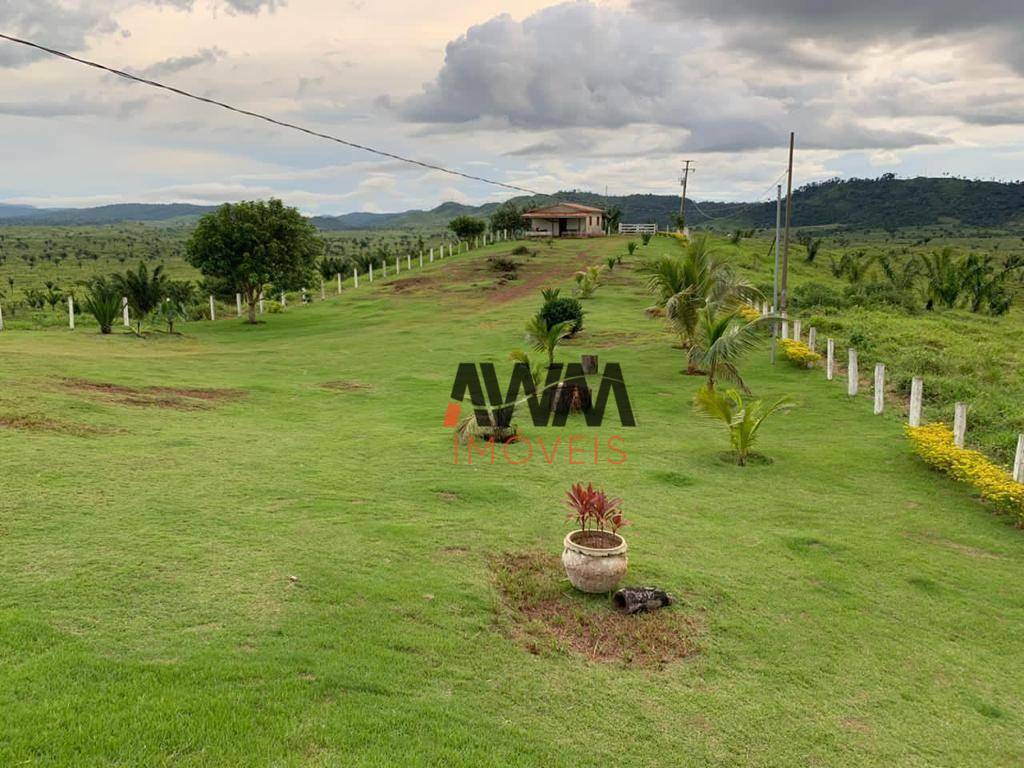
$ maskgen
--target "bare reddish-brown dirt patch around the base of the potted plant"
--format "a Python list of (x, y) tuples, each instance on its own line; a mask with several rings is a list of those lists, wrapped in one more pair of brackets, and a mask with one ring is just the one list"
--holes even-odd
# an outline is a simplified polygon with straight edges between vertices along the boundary
[(701, 622), (682, 606), (620, 613), (609, 597), (573, 590), (557, 555), (505, 554), (493, 569), (510, 634), (530, 653), (569, 651), (593, 662), (657, 668), (699, 651)]

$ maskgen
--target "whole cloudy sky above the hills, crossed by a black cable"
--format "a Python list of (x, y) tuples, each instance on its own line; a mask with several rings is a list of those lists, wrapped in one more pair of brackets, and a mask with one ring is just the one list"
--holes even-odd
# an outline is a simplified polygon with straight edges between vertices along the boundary
[[(0, 32), (545, 191), (757, 200), (784, 170), (1017, 178), (1021, 0), (0, 0)], [(310, 213), (509, 194), (0, 41), (0, 201)]]

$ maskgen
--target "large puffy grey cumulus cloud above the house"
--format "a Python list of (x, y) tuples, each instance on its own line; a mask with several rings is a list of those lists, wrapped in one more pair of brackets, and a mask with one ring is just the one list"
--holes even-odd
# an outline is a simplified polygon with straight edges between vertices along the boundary
[[(818, 56), (795, 51), (804, 60)], [(699, 30), (567, 3), (521, 23), (503, 15), (471, 28), (449, 44), (436, 79), (394, 109), (408, 121), (453, 130), (497, 122), (558, 134), (511, 156), (556, 147), (590, 156), (580, 135), (586, 129), (630, 126), (683, 129), (687, 138), (672, 151), (691, 152), (775, 147), (784, 144), (791, 129), (806, 137), (803, 145), (822, 148), (941, 140), (916, 131), (869, 129), (856, 115), (837, 119), (829, 102), (836, 73), (825, 82), (800, 85), (798, 99), (784, 90), (765, 95), (748, 73), (731, 74), (735, 68), (726, 65), (733, 62), (717, 55)]]

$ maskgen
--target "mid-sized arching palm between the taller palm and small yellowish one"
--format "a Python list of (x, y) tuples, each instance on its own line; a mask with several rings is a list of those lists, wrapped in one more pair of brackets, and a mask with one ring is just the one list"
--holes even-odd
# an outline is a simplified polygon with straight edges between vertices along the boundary
[(719, 313), (714, 305), (701, 309), (697, 314), (696, 336), (689, 356), (694, 368), (699, 366), (707, 372), (708, 388), (715, 389), (715, 384), (722, 378), (734, 382), (749, 394), (750, 389), (739, 375), (737, 364), (743, 354), (764, 340), (761, 329), (777, 319), (766, 315), (746, 323), (735, 311)]

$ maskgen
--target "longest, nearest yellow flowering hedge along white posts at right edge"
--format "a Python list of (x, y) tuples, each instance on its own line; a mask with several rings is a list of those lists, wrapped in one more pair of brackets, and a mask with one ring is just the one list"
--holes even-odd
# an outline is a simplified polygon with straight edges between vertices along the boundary
[(957, 446), (952, 430), (945, 424), (907, 427), (906, 433), (922, 459), (950, 477), (970, 483), (982, 499), (1024, 524), (1024, 483), (1016, 482), (1013, 475), (992, 464), (984, 454)]

